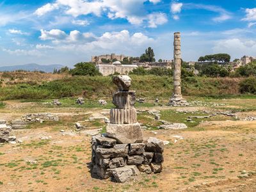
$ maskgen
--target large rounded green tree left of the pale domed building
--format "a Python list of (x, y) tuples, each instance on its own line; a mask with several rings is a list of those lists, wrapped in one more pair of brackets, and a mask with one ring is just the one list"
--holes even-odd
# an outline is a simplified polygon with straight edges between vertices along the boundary
[(70, 70), (72, 76), (101, 76), (93, 63), (81, 62), (74, 65), (74, 67)]

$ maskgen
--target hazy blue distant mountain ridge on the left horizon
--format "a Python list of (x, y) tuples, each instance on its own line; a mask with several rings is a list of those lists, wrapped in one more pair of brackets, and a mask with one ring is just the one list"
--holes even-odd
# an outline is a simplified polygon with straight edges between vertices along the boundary
[(61, 67), (64, 67), (64, 66), (63, 65), (38, 65), (36, 63), (29, 63), (26, 65), (13, 65), (13, 66), (0, 67), (0, 72), (4, 72), (4, 71), (11, 72), (15, 70), (53, 72), (54, 68), (59, 70)]

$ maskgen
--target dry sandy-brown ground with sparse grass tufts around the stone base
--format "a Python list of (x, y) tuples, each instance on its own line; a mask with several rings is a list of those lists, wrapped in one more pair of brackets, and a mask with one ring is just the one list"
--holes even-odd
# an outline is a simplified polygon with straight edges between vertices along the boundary
[[(150, 109), (186, 113), (243, 108), (236, 114), (244, 118), (256, 116), (256, 109), (252, 109), (255, 101), (248, 104), (246, 99), (216, 100), (227, 104), (221, 109)], [(108, 110), (43, 108), (36, 103), (8, 101), (0, 109), (0, 119), (45, 111), (61, 116), (60, 123), (33, 124), (30, 129), (15, 130), (13, 134), (23, 142), (0, 145), (0, 191), (256, 191), (255, 121), (207, 120), (183, 130), (143, 130), (144, 136), (170, 141), (164, 149), (163, 172), (140, 175), (119, 184), (91, 177), (91, 136), (74, 129), (77, 120)], [(40, 140), (42, 136), (50, 139)]]

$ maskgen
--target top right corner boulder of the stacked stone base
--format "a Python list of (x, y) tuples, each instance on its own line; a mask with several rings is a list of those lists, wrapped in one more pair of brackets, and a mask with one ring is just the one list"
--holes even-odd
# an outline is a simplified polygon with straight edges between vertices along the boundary
[(162, 153), (164, 151), (164, 142), (157, 138), (148, 138), (146, 141), (146, 152), (157, 152)]

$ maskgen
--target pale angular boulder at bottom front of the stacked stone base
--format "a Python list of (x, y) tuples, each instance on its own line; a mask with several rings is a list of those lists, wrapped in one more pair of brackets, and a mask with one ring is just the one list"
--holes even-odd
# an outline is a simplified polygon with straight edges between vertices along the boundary
[(129, 167), (120, 167), (112, 170), (113, 177), (116, 182), (125, 182), (133, 175), (132, 169)]

